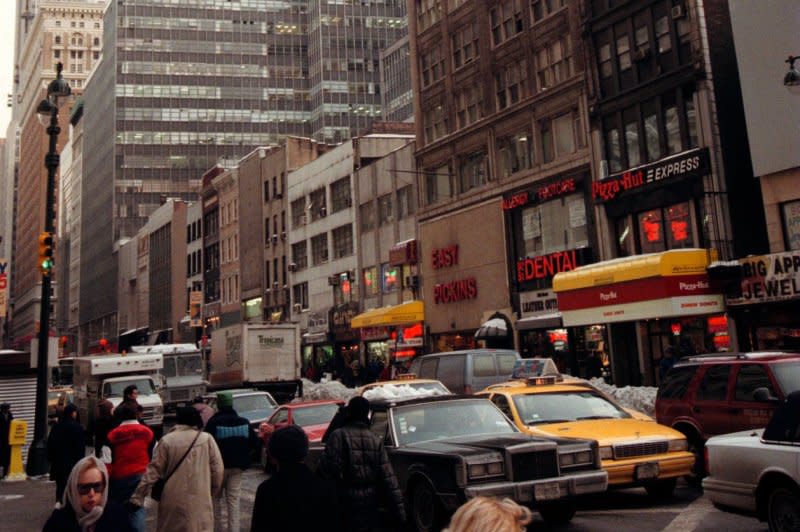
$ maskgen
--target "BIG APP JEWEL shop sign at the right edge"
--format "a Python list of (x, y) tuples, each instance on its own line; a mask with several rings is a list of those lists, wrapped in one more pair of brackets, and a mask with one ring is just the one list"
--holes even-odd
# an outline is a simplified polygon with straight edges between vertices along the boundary
[(739, 259), (742, 296), (726, 298), (728, 305), (749, 305), (800, 299), (800, 251)]

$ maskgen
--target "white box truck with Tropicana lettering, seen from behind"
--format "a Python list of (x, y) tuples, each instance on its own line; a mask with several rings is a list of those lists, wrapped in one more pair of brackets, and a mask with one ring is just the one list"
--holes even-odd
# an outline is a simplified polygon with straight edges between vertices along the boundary
[(297, 325), (241, 323), (211, 336), (209, 388), (251, 387), (278, 402), (302, 395), (300, 330)]

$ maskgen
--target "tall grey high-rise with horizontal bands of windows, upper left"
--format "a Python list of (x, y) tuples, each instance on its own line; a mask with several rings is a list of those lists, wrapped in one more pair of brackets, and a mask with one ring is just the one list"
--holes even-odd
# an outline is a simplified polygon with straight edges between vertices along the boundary
[(380, 117), (390, 2), (112, 0), (86, 91), (80, 348), (115, 335), (115, 246), (161, 196), (287, 135), (344, 140)]

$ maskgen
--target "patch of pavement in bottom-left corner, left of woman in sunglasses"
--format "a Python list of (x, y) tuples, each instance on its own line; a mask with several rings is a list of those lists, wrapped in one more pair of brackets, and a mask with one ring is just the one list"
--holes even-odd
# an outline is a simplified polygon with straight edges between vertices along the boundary
[(56, 483), (41, 479), (0, 482), (0, 529), (9, 532), (39, 532), (53, 511)]

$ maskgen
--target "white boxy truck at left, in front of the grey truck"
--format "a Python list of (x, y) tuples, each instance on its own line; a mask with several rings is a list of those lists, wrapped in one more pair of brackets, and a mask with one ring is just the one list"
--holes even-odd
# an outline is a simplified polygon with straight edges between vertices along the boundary
[(73, 362), (72, 388), (81, 425), (87, 431), (94, 426), (98, 401), (108, 399), (116, 406), (123, 391), (131, 384), (139, 390), (142, 419), (156, 434), (164, 425), (164, 403), (158, 393), (164, 356), (158, 354), (108, 354), (77, 357)]

